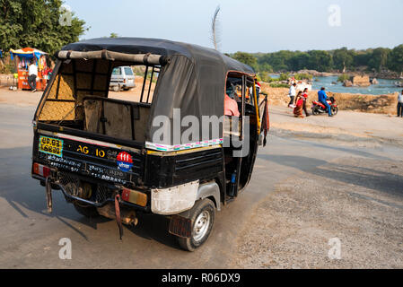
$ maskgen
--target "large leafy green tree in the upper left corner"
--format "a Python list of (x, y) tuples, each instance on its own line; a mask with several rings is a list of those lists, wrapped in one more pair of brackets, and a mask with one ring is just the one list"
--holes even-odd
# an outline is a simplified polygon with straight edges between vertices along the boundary
[[(0, 0), (0, 48), (39, 48), (53, 55), (78, 41), (87, 30), (85, 22), (66, 13), (62, 4), (62, 0)], [(61, 24), (65, 14), (71, 22)]]

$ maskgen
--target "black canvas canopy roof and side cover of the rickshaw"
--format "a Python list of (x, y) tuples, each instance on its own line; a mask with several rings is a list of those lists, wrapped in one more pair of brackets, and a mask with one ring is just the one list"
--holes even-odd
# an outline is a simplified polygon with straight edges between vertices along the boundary
[[(83, 54), (82, 52), (86, 53)], [(162, 65), (153, 96), (149, 123), (146, 128), (146, 139), (150, 143), (153, 143), (154, 132), (160, 130), (160, 126), (153, 126), (153, 118), (165, 116), (169, 119), (171, 126), (165, 127), (170, 129), (167, 130), (167, 133), (171, 136), (169, 139), (164, 139), (163, 143), (177, 144), (178, 139), (173, 139), (174, 109), (180, 109), (181, 118), (194, 116), (199, 119), (200, 123), (202, 123), (204, 116), (223, 117), (224, 93), (228, 73), (237, 72), (250, 76), (255, 74), (249, 65), (244, 65), (215, 49), (166, 39), (87, 39), (65, 46), (58, 53), (58, 57), (68, 58), (69, 55), (73, 54), (75, 58), (80, 57), (80, 55), (89, 55), (94, 58), (113, 59), (113, 55), (122, 58), (127, 57), (126, 55), (137, 55), (141, 57), (136, 58), (141, 59), (143, 55), (149, 54), (169, 58), (167, 64)], [(145, 65), (144, 63), (137, 64)], [(211, 135), (209, 131), (206, 131), (206, 128), (209, 127), (200, 125), (199, 135), (206, 135), (207, 133), (208, 138), (204, 137), (203, 140), (215, 140), (216, 136)], [(183, 133), (187, 127), (180, 127), (180, 129)], [(223, 133), (220, 131), (220, 137), (222, 135)]]

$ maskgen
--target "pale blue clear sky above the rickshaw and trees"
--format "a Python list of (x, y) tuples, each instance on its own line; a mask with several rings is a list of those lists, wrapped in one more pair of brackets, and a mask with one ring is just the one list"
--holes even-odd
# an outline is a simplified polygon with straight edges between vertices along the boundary
[(403, 44), (403, 0), (66, 0), (65, 4), (90, 27), (81, 39), (114, 32), (213, 48), (211, 20), (220, 5), (223, 53)]

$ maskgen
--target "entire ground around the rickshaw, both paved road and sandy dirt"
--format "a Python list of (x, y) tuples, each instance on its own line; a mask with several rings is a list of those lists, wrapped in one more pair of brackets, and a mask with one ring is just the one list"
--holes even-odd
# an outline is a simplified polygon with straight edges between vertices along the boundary
[[(133, 99), (135, 91), (111, 93)], [(403, 118), (341, 110), (295, 118), (270, 107), (272, 129), (250, 186), (217, 214), (196, 253), (158, 218), (118, 241), (113, 221), (89, 222), (30, 179), (31, 118), (40, 92), (0, 89), (0, 266), (4, 268), (403, 268)], [(58, 239), (74, 260), (58, 259)], [(329, 258), (329, 239), (341, 244)]]

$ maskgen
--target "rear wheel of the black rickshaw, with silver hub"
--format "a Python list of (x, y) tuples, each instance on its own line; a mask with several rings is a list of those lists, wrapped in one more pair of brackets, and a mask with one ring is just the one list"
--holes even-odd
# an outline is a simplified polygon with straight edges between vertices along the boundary
[(189, 211), (192, 232), (189, 239), (178, 238), (180, 248), (193, 252), (208, 239), (215, 222), (215, 204), (208, 198), (198, 201)]

